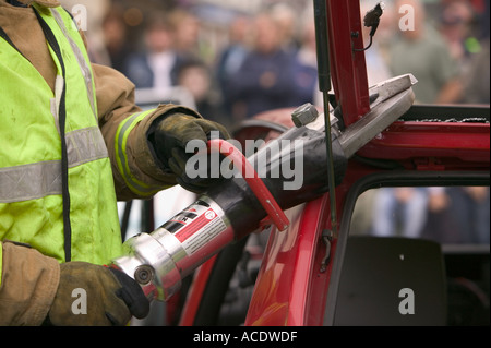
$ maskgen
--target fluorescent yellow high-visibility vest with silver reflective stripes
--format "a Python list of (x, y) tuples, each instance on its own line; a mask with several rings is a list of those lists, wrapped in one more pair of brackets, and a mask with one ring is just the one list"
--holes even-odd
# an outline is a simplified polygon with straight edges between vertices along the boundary
[(0, 37), (0, 272), (2, 240), (28, 243), (59, 262), (105, 264), (122, 253), (122, 243), (88, 56), (65, 10), (33, 8), (58, 76), (53, 93)]

